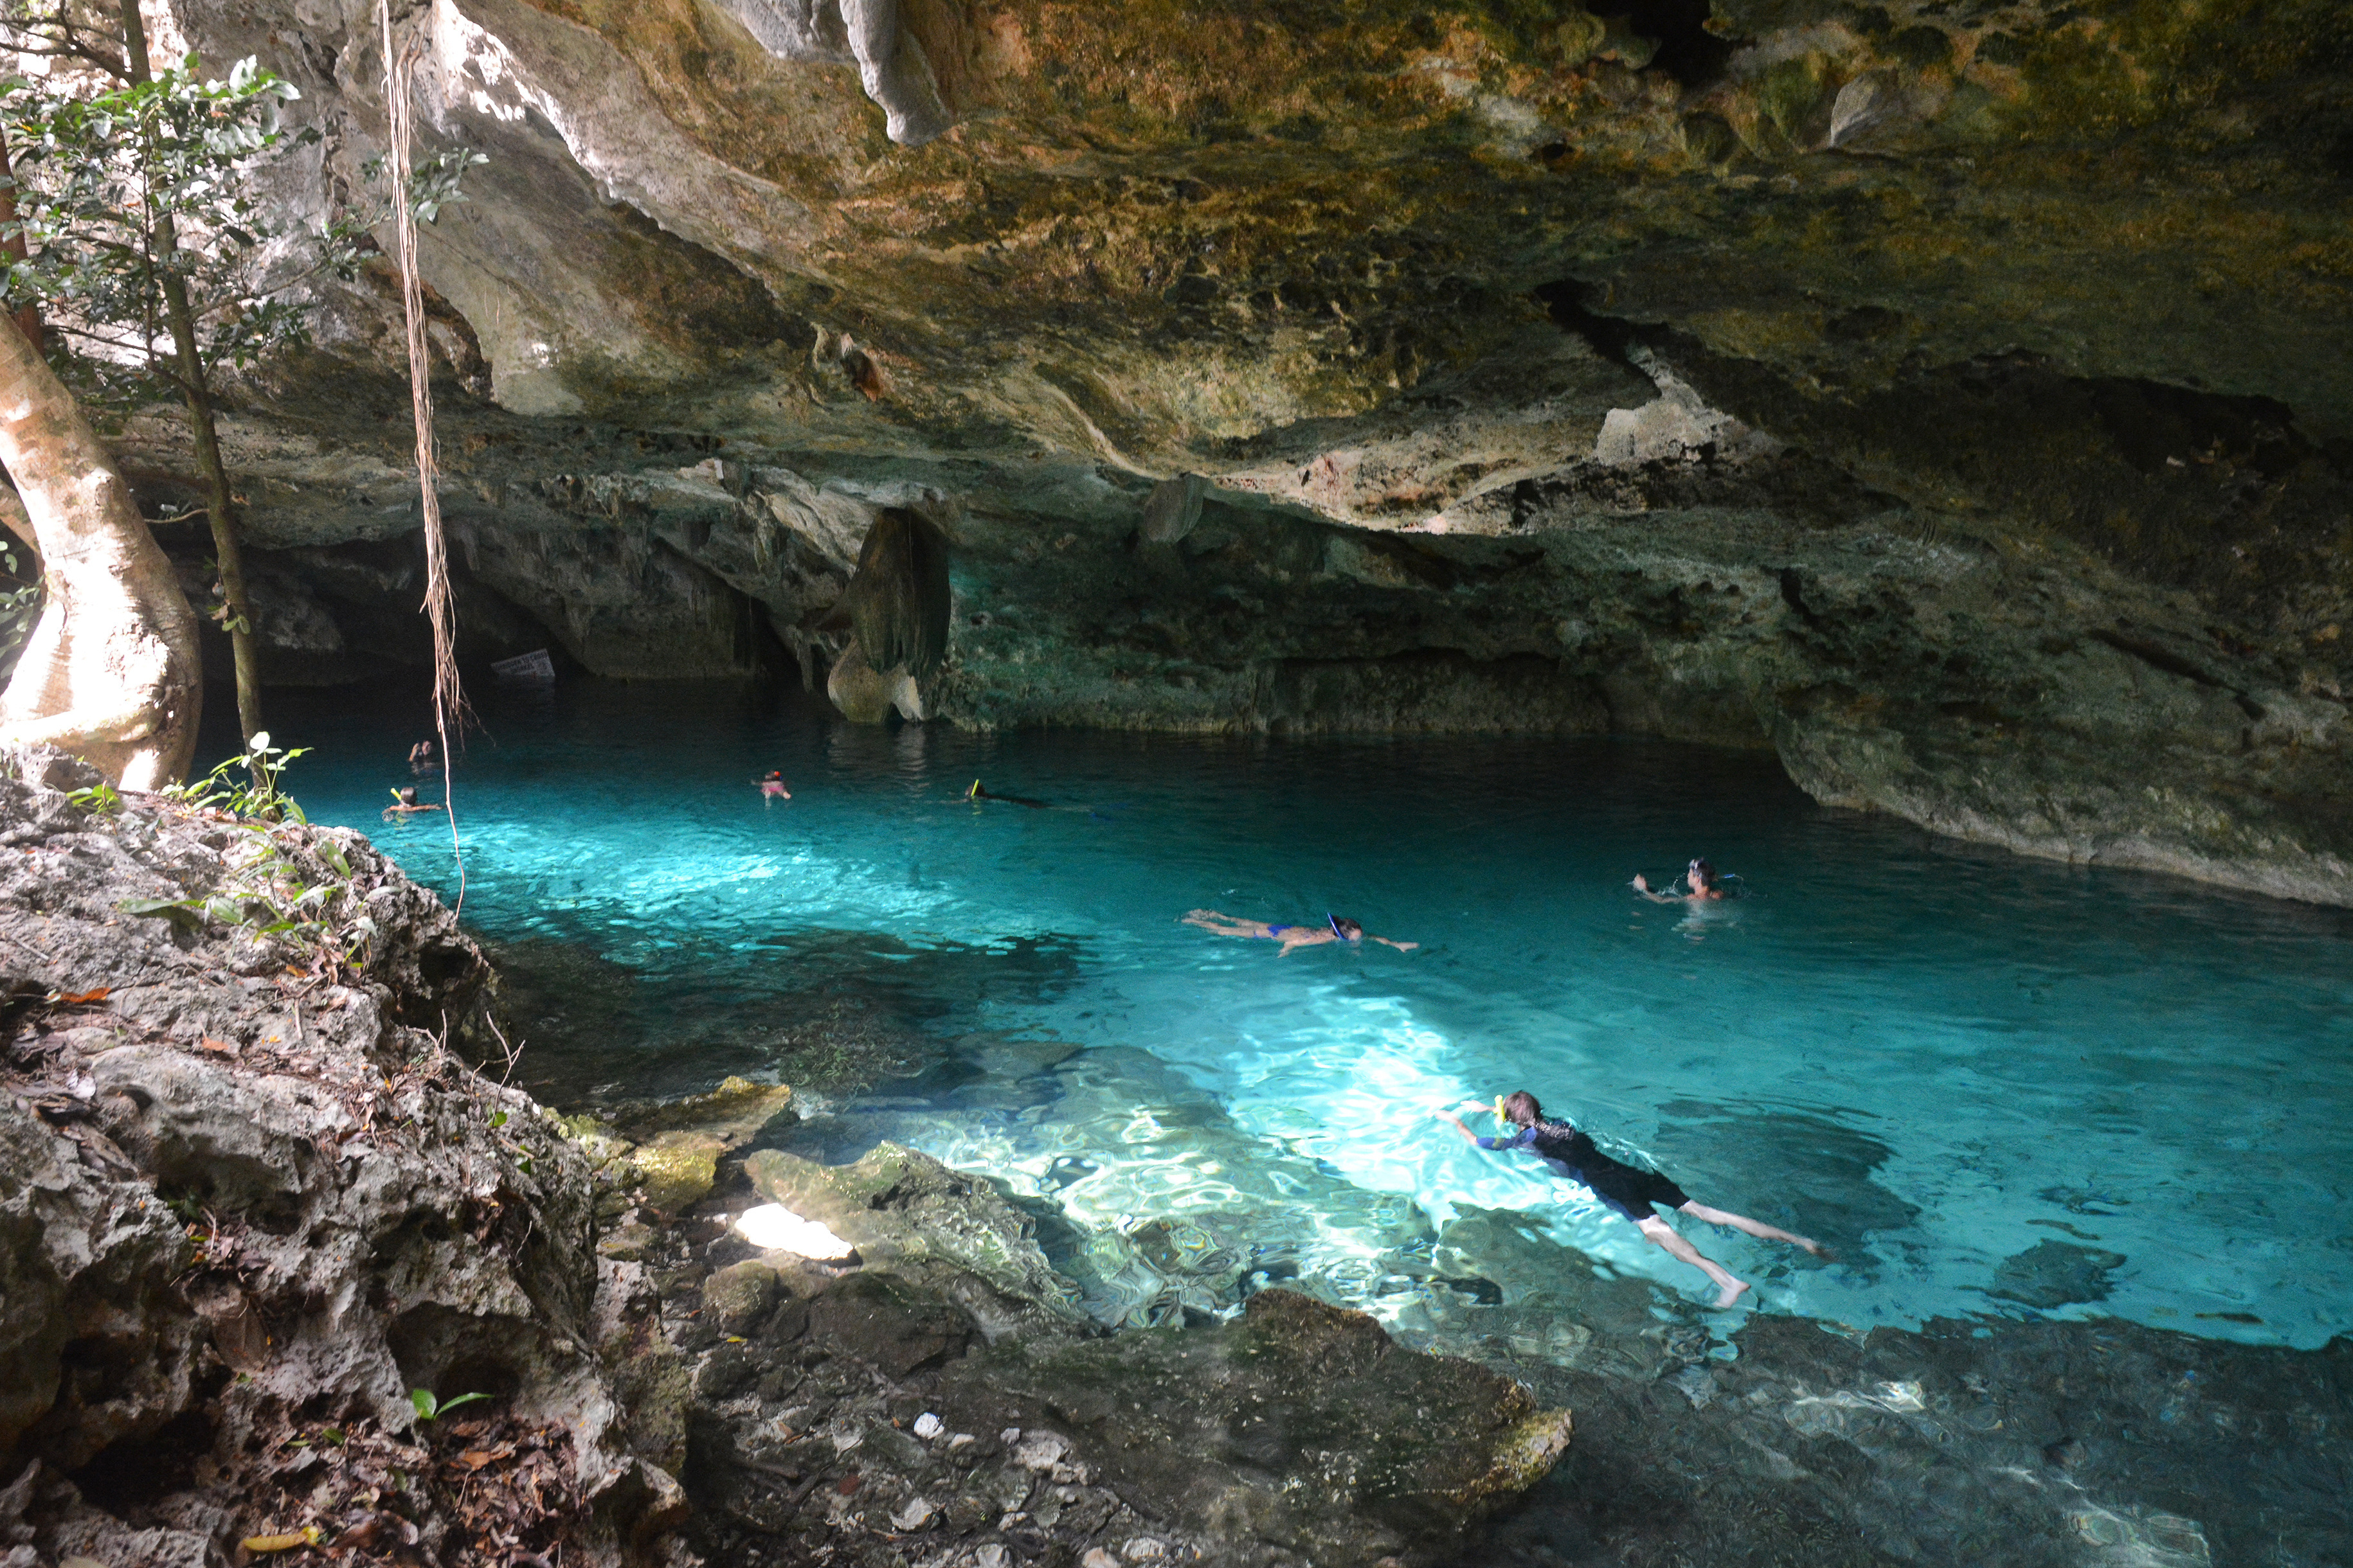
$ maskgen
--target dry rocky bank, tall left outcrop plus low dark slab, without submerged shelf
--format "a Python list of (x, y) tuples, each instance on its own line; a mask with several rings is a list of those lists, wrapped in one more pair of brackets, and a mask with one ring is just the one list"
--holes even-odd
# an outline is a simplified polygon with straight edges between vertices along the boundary
[[(1268, 1291), (1106, 1340), (906, 1150), (506, 1088), (494, 976), (365, 837), (0, 776), (0, 1563), (1435, 1561), (1569, 1441)], [(762, 1253), (758, 1194), (835, 1262)]]

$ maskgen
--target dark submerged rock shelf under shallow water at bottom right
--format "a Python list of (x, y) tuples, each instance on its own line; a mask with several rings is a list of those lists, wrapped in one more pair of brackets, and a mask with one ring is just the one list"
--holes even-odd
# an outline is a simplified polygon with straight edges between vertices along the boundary
[(2017, 1312), (1922, 1331), (1689, 1307), (1497, 1218), (1447, 1229), (1492, 1298), (1409, 1314), (1577, 1410), (1468, 1563), (2294, 1563), (2353, 1549), (2353, 1342), (2294, 1352)]

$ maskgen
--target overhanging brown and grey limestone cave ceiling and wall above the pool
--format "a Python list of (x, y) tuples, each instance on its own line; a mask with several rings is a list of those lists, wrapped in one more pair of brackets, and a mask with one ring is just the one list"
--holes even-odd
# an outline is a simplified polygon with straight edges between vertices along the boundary
[[(304, 87), (287, 202), (358, 179), (369, 9), (181, 21)], [(489, 153), (424, 263), (480, 651), (814, 677), (913, 505), (955, 722), (1737, 738), (1826, 799), (2353, 900), (2334, 0), (402, 26), (433, 141)], [(405, 656), (355, 585), (412, 569), (386, 299), (238, 411), (287, 675)], [(186, 475), (169, 423), (125, 444)]]

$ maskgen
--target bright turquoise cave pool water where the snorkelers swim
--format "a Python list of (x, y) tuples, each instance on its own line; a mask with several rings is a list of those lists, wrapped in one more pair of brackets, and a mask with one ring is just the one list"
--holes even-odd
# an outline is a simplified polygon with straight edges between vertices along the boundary
[[(421, 708), (278, 708), (318, 748), (289, 778), (313, 820), (454, 891), (438, 818), (376, 820)], [(602, 684), (482, 717), (464, 914), (518, 978), (541, 1095), (701, 1088), (849, 1030), (904, 1077), (807, 1095), (805, 1147), (892, 1135), (1052, 1199), (1106, 1298), (1217, 1307), (1266, 1267), (1395, 1309), (1478, 1204), (1704, 1302), (1431, 1119), (1527, 1086), (1840, 1253), (1685, 1225), (1767, 1312), (2353, 1328), (2344, 910), (1958, 846), (1671, 745), (861, 731)], [(1054, 809), (962, 802), (974, 776)], [(1751, 896), (1626, 889), (1692, 853)], [(1278, 957), (1176, 924), (1200, 905), (1421, 947)]]

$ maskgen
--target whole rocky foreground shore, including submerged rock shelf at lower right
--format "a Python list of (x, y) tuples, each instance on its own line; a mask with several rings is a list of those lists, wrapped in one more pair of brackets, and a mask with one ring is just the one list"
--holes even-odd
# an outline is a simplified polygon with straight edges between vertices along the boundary
[(494, 973), (360, 835), (5, 771), (7, 1568), (2353, 1556), (2353, 1347), (2045, 1316), (2085, 1248), (2009, 1319), (1725, 1338), (1466, 1208), (1386, 1324), (1231, 1269), (1136, 1316), (1040, 1199), (793, 1152), (781, 1084), (501, 1086)]

